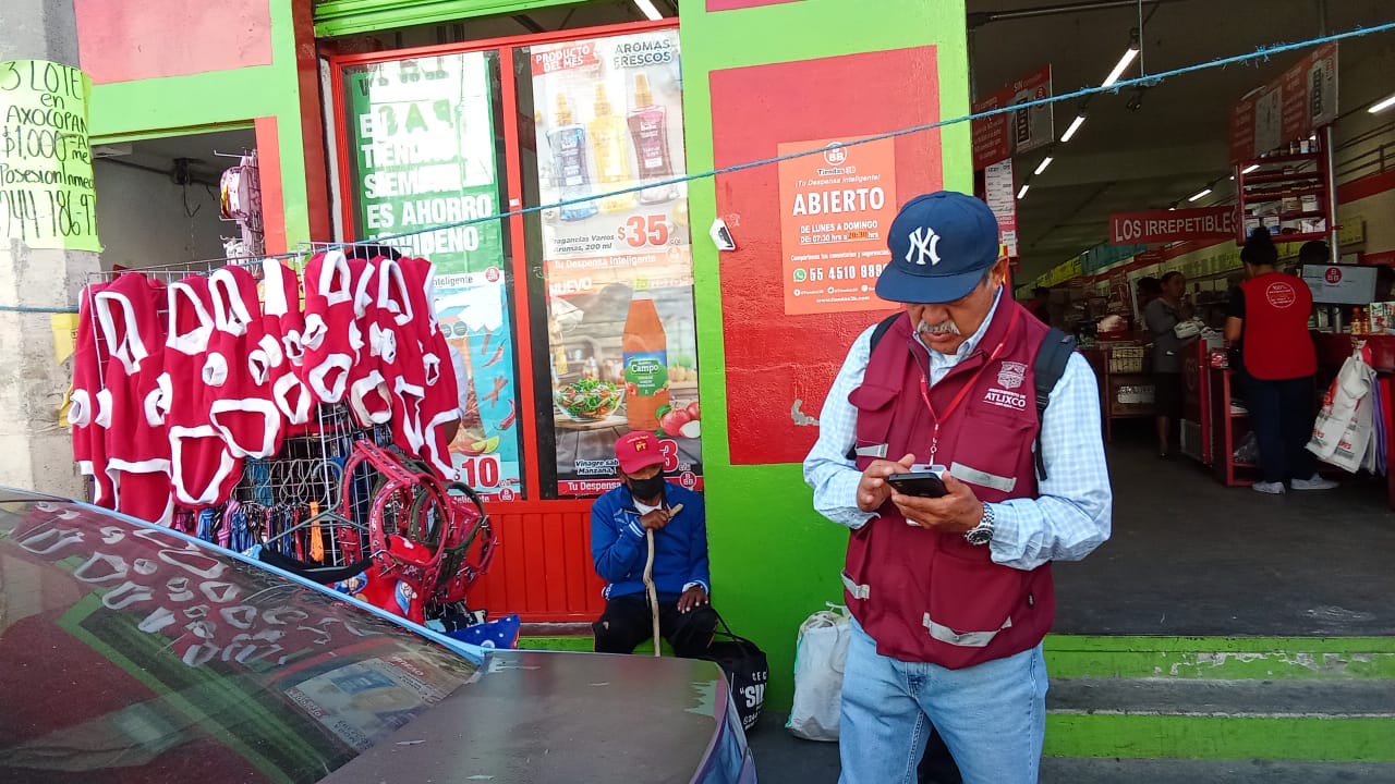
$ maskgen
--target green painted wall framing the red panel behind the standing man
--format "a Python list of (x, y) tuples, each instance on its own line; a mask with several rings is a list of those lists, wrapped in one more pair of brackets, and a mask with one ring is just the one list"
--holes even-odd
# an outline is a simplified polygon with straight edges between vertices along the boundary
[[(706, 0), (681, 0), (679, 18), (689, 172), (713, 167), (713, 70), (935, 45), (940, 116), (968, 113), (963, 0), (798, 0), (714, 14)], [(944, 186), (972, 193), (968, 124), (944, 128), (943, 144)], [(704, 234), (717, 212), (713, 180), (691, 184), (689, 211)], [(731, 465), (721, 287), (710, 241), (693, 243), (693, 262), (713, 604), (770, 656), (767, 707), (784, 710), (794, 696), (799, 624), (824, 601), (843, 601), (847, 532), (813, 513), (798, 465)]]

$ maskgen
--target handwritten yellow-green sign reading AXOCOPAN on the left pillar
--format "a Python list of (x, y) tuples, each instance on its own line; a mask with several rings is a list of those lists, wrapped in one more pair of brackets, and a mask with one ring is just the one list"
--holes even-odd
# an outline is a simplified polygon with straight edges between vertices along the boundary
[(102, 251), (88, 140), (92, 80), (47, 60), (0, 61), (0, 239)]

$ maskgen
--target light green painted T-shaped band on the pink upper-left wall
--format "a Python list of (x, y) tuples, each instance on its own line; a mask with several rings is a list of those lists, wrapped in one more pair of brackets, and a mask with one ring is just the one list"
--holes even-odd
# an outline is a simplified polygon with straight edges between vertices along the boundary
[(247, 127), (257, 117), (276, 117), (289, 247), (310, 240), (292, 1), (268, 0), (271, 66), (96, 85), (89, 112), (92, 144)]

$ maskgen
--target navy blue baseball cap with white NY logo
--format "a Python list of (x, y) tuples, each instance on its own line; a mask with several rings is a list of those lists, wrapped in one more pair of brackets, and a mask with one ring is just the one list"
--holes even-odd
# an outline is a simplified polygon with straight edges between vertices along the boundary
[(997, 218), (981, 199), (954, 191), (905, 202), (886, 240), (891, 261), (876, 296), (893, 303), (953, 303), (972, 292), (999, 258)]

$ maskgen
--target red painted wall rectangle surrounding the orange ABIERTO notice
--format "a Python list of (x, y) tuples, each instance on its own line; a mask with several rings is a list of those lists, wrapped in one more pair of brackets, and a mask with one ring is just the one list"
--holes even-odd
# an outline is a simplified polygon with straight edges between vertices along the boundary
[[(728, 167), (773, 158), (783, 144), (861, 140), (932, 124), (940, 120), (942, 77), (949, 84), (964, 77), (946, 63), (953, 66), (954, 59), (942, 61), (935, 46), (914, 46), (714, 70), (709, 75), (713, 163)], [(905, 100), (907, 95), (918, 99)], [(896, 195), (886, 199), (889, 219), (911, 198), (943, 188), (944, 166), (957, 181), (968, 181), (967, 156), (949, 155), (937, 130), (896, 137), (891, 145)], [(847, 148), (859, 173), (866, 166), (858, 158), (862, 146)], [(827, 166), (820, 156), (809, 160)], [(721, 324), (704, 329), (721, 329), (725, 438), (731, 463), (739, 466), (804, 460), (819, 437), (819, 414), (848, 346), (890, 312), (869, 306), (785, 312), (792, 279), (784, 259), (776, 261), (794, 219), (792, 202), (787, 205), (781, 193), (785, 181), (778, 165), (716, 177), (717, 215), (731, 227), (737, 250), (717, 257)], [(886, 250), (884, 239), (880, 247)]]

